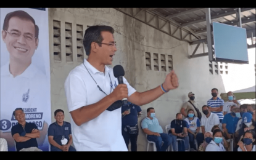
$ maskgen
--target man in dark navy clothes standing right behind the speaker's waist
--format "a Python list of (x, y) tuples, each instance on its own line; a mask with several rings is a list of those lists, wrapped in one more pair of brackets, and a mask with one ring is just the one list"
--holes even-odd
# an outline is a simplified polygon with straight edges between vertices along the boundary
[(139, 135), (138, 117), (141, 116), (141, 107), (128, 102), (122, 106), (122, 135), (128, 149), (131, 141), (131, 151), (137, 151)]

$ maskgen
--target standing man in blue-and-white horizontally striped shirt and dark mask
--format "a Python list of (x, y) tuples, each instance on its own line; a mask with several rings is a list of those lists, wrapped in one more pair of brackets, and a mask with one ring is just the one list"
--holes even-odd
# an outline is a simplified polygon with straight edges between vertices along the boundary
[(220, 129), (222, 129), (221, 122), (224, 118), (223, 115), (223, 105), (224, 100), (218, 97), (218, 89), (214, 88), (212, 89), (212, 98), (207, 101), (207, 106), (210, 106), (209, 110), (212, 111), (212, 113), (215, 113), (218, 115), (218, 118), (220, 119)]

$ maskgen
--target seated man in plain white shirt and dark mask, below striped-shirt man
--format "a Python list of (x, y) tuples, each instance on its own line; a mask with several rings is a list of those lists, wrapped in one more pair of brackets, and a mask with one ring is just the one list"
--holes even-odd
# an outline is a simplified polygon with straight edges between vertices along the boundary
[(197, 143), (203, 143), (204, 142), (204, 134), (205, 132), (211, 131), (213, 126), (219, 126), (220, 119), (218, 118), (218, 115), (215, 113), (210, 112), (209, 106), (204, 105), (202, 106), (202, 115), (201, 118), (201, 129), (202, 133), (197, 134)]

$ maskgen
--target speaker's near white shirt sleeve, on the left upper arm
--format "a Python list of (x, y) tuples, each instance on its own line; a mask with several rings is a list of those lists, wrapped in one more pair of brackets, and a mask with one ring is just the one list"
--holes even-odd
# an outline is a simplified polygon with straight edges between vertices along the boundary
[(65, 81), (65, 94), (68, 111), (74, 111), (87, 105), (85, 82), (74, 73), (70, 73)]

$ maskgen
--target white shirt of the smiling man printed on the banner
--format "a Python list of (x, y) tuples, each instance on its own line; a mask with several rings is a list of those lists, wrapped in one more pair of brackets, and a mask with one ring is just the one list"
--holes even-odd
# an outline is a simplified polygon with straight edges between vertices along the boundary
[[(15, 108), (23, 108), (27, 122), (35, 122), (42, 129), (51, 106), (49, 84), (46, 75), (36, 66), (30, 65), (19, 76), (12, 76), (9, 63), (1, 67), (1, 131), (10, 132), (17, 124), (13, 116)], [(39, 145), (39, 144), (38, 144)]]

